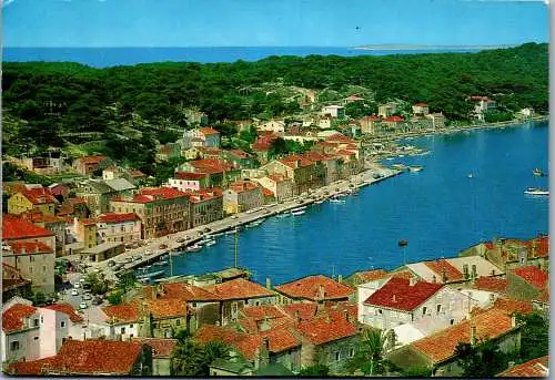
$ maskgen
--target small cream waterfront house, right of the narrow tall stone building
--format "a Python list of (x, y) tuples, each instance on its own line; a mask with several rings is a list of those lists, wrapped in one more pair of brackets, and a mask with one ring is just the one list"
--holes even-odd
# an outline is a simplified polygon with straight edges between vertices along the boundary
[(223, 192), (223, 210), (225, 214), (243, 213), (264, 205), (264, 195), (258, 183), (238, 181), (231, 183)]

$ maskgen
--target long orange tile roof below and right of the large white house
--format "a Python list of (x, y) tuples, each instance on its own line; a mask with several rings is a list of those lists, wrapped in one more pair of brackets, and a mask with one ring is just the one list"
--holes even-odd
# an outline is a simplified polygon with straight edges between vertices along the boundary
[(416, 340), (411, 346), (435, 364), (451, 358), (460, 342), (471, 341), (471, 323), (476, 327), (478, 341), (494, 339), (513, 329), (511, 317), (504, 310), (492, 308), (470, 320)]

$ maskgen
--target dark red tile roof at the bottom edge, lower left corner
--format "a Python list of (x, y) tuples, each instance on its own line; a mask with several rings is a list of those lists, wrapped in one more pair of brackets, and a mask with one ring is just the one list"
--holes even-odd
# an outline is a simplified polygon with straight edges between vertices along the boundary
[(67, 374), (129, 374), (142, 349), (137, 341), (65, 340), (51, 370)]

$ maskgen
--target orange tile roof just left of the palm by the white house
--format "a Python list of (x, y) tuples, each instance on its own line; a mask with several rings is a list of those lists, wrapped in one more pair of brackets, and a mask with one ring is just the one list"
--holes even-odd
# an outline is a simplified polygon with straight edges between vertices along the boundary
[(331, 316), (327, 315), (302, 322), (297, 326), (297, 330), (316, 346), (357, 333), (356, 327), (340, 314), (332, 314)]

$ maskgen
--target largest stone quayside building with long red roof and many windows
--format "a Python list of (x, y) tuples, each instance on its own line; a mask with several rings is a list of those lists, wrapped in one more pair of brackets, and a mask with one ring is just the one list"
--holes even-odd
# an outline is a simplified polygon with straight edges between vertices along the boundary
[(185, 230), (190, 218), (189, 194), (171, 187), (142, 188), (133, 196), (112, 198), (110, 209), (138, 215), (143, 239)]

